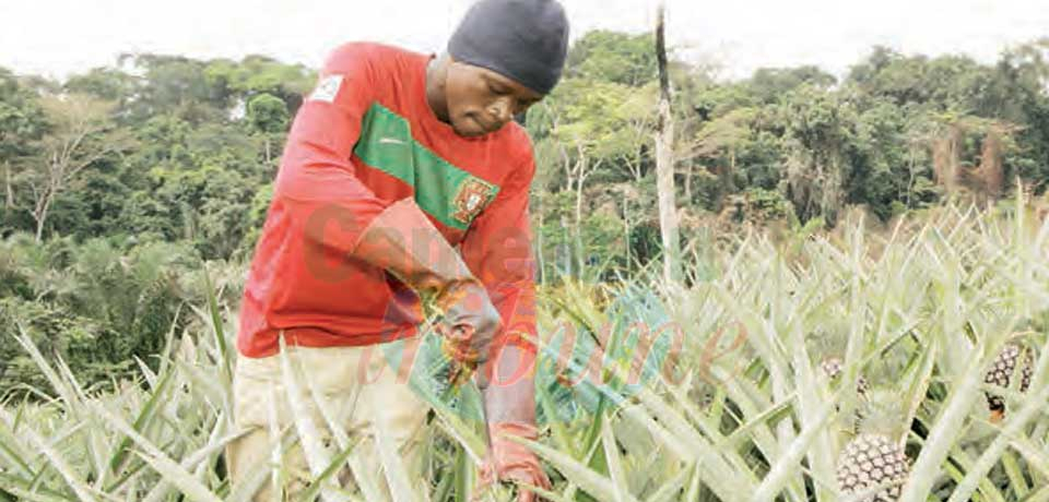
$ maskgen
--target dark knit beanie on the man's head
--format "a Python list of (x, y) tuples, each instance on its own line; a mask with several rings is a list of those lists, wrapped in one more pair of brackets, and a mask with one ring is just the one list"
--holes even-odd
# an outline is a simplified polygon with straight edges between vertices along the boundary
[(480, 0), (448, 40), (456, 61), (484, 67), (540, 94), (561, 79), (568, 19), (556, 0)]

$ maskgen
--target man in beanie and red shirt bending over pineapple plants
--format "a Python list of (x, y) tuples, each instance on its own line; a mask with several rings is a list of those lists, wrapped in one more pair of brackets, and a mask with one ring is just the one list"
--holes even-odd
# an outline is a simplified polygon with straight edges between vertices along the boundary
[[(417, 475), (428, 408), (372, 349), (415, 340), (425, 298), (446, 354), (478, 370), (491, 444), (480, 486), (550, 487), (534, 454), (508, 439), (538, 435), (535, 165), (512, 119), (556, 85), (567, 40), (556, 0), (480, 0), (439, 58), (365, 43), (328, 58), (292, 125), (245, 287), (234, 420), (248, 432), (227, 449), (235, 485), (275, 452), (292, 479), (262, 481), (257, 500), (282, 486), (295, 500), (327, 467), (304, 450), (323, 453), (340, 434), (364, 438), (351, 462), (360, 470), (384, 470), (386, 437)], [(323, 441), (310, 443), (315, 429)], [(285, 449), (287, 435), (303, 447)], [(368, 500), (389, 497), (357, 470)]]

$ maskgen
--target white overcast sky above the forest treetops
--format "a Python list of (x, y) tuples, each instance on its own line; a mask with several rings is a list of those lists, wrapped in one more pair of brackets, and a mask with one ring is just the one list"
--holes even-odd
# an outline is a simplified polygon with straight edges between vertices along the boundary
[[(439, 51), (472, 0), (0, 0), (0, 65), (64, 77), (120, 52), (316, 68), (354, 39)], [(592, 28), (651, 29), (655, 0), (563, 0), (573, 38)], [(668, 37), (722, 76), (818, 64), (840, 73), (875, 44), (905, 53), (993, 61), (1049, 36), (1049, 0), (668, 0)]]

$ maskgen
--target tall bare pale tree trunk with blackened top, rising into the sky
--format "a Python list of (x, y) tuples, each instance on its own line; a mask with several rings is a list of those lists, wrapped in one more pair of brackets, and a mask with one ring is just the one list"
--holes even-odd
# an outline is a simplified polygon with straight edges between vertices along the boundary
[(681, 277), (677, 210), (674, 203), (674, 120), (670, 112), (670, 75), (667, 72), (665, 4), (656, 14), (656, 60), (659, 63), (659, 123), (656, 128), (656, 190), (659, 193), (659, 229), (663, 241), (663, 278)]

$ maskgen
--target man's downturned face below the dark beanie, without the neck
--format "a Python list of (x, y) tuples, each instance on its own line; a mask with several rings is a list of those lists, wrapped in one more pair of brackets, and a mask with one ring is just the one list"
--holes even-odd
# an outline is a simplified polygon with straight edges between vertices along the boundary
[(451, 127), (472, 138), (498, 131), (543, 95), (486, 68), (451, 61), (445, 98)]

